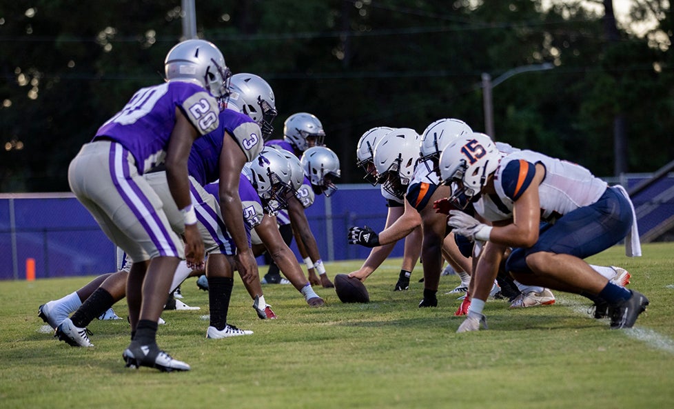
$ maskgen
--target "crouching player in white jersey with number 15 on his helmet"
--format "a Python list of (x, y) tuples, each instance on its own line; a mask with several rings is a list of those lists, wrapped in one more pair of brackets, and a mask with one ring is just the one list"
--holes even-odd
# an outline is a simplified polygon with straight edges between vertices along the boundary
[[(466, 320), (457, 332), (480, 329), (489, 283), (508, 247), (506, 270), (518, 281), (584, 295), (611, 317), (611, 328), (631, 328), (649, 300), (595, 271), (584, 258), (626, 238), (640, 255), (632, 203), (619, 186), (610, 188), (589, 170), (531, 150), (502, 155), (491, 139), (473, 133), (455, 139), (440, 156), (450, 201), (475, 201), (478, 215), (460, 210), (448, 224), (456, 234), (484, 241), (473, 272), (474, 294)], [(502, 219), (494, 215), (510, 214)]]

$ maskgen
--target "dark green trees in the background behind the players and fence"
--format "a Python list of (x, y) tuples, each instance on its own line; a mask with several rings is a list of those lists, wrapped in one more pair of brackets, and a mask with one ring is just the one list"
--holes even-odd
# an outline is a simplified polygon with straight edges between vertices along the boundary
[[(599, 1), (602, 4), (604, 0)], [(546, 3), (547, 4), (547, 3)], [(455, 0), (225, 0), (196, 2), (197, 30), (234, 72), (274, 88), (274, 122), (311, 112), (338, 153), (343, 182), (361, 181), (356, 143), (375, 126), (422, 132), (442, 117), (484, 130), (480, 74), (551, 62), (493, 95), (498, 139), (613, 174), (615, 117), (624, 117), (627, 170), (674, 156), (672, 14), (640, 0), (645, 36), (584, 2)], [(181, 37), (176, 0), (34, 0), (0, 6), (1, 191), (68, 190), (70, 159), (141, 86), (163, 77)], [(96, 6), (103, 12), (89, 12)], [(608, 20), (609, 17), (606, 17)], [(617, 31), (617, 37), (616, 37)], [(23, 144), (23, 149), (19, 146)], [(624, 168), (621, 165), (620, 168)]]

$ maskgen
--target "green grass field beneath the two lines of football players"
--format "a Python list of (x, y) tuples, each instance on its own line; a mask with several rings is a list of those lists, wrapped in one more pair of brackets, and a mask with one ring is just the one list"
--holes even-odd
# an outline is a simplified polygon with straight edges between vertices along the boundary
[[(188, 279), (183, 301), (201, 310), (165, 312), (159, 345), (192, 371), (168, 374), (124, 368), (125, 320), (94, 320), (94, 348), (40, 331), (38, 306), (92, 277), (0, 281), (0, 408), (673, 408), (673, 259), (674, 243), (590, 259), (627, 268), (651, 300), (630, 330), (609, 330), (589, 301), (555, 292), (553, 306), (489, 301), (489, 330), (456, 334), (460, 301), (445, 292), (458, 278), (442, 277), (438, 308), (418, 308), (421, 267), (409, 291), (393, 292), (400, 260), (390, 259), (366, 282), (368, 304), (317, 288), (328, 306), (309, 308), (292, 286), (265, 286), (272, 321), (256, 318), (237, 279), (229, 322), (255, 334), (207, 340), (207, 294)], [(115, 310), (125, 317), (125, 302)]]

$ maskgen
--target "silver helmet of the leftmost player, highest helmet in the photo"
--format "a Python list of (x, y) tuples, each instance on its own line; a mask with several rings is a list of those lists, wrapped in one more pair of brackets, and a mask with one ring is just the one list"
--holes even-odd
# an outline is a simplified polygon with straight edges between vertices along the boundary
[(224, 99), (229, 94), (232, 72), (218, 48), (205, 40), (185, 40), (177, 43), (164, 60), (166, 79), (198, 83), (214, 97)]

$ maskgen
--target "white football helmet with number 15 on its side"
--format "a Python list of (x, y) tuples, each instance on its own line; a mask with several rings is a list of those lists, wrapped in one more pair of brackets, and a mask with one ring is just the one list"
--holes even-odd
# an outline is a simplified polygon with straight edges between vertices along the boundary
[[(449, 198), (464, 208), (477, 197), (496, 172), (501, 155), (490, 137), (473, 132), (454, 139), (440, 154), (440, 178), (443, 184), (453, 186)], [(464, 198), (462, 198), (464, 196)]]

